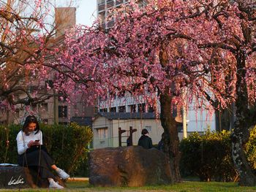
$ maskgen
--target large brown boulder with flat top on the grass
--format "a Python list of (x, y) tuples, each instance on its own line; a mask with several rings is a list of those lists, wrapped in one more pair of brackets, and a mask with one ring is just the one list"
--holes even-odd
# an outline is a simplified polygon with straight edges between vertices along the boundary
[(89, 183), (94, 186), (143, 186), (171, 182), (165, 153), (140, 146), (102, 148), (89, 153)]

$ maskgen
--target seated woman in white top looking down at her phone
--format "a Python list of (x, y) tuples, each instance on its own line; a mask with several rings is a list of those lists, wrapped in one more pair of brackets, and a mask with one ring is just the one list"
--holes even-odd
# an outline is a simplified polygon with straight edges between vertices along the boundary
[(50, 171), (55, 170), (61, 179), (66, 180), (69, 174), (59, 169), (42, 145), (42, 131), (39, 130), (37, 118), (34, 115), (26, 117), (22, 130), (17, 135), (18, 164), (20, 166), (37, 167), (39, 176), (48, 179), (49, 188), (64, 188), (54, 181), (54, 174)]

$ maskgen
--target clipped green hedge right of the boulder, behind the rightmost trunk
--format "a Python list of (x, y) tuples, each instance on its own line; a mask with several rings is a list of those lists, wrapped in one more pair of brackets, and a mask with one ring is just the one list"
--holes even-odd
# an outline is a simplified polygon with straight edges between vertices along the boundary
[[(256, 170), (256, 126), (245, 146), (252, 169)], [(230, 131), (191, 134), (180, 143), (182, 176), (197, 176), (202, 181), (233, 181), (237, 177), (231, 156)]]

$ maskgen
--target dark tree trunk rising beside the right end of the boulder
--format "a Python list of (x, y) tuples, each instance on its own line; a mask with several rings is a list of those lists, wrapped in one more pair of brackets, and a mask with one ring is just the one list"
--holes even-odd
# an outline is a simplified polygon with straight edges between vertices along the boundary
[(164, 151), (169, 156), (170, 172), (172, 174), (172, 182), (181, 182), (181, 174), (179, 172), (179, 161), (181, 153), (178, 150), (178, 129), (176, 121), (171, 112), (171, 96), (167, 93), (162, 93), (160, 96), (161, 104), (161, 124), (165, 131), (165, 147)]

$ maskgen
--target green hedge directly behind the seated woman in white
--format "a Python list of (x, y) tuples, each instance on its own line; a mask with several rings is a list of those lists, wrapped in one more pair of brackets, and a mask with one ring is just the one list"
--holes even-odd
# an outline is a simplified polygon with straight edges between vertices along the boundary
[[(21, 126), (18, 125), (0, 126), (1, 163), (17, 164), (16, 136), (20, 129)], [(43, 133), (43, 144), (61, 169), (74, 174), (80, 164), (87, 161), (88, 145), (92, 139), (91, 128), (70, 123), (68, 126), (40, 125), (40, 129)]]

